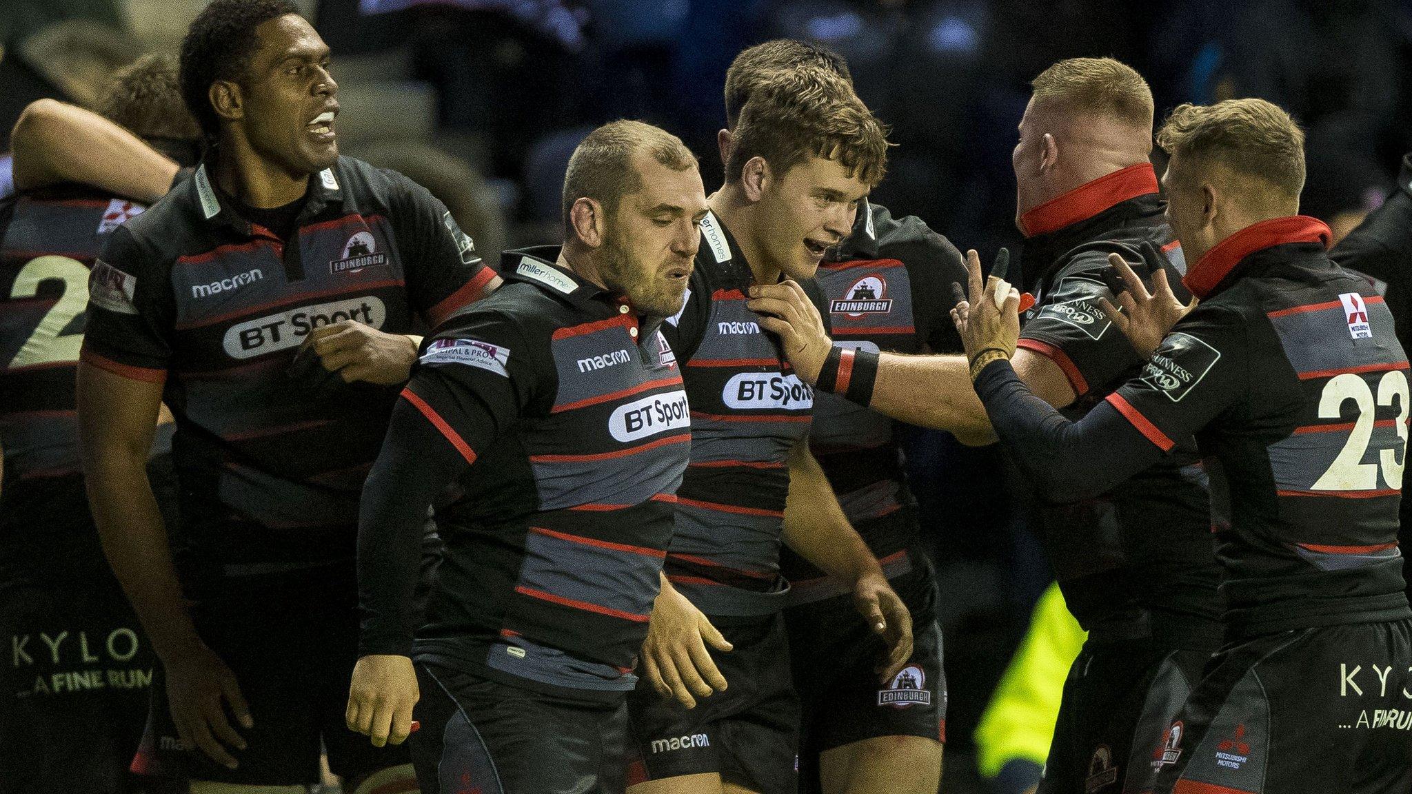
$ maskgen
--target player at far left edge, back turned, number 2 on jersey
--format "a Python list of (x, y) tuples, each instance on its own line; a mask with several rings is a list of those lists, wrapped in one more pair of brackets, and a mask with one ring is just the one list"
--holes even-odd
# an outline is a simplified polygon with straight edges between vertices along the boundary
[[(120, 71), (99, 109), (195, 162), (199, 133), (169, 58)], [(18, 174), (32, 172), (31, 154), (18, 146)], [(0, 790), (138, 791), (127, 764), (147, 722), (155, 657), (89, 513), (73, 373), (89, 268), (144, 206), (86, 185), (21, 184), (0, 203), (0, 637), (13, 651), (0, 674)], [(169, 415), (165, 422), (147, 468), (171, 514)]]

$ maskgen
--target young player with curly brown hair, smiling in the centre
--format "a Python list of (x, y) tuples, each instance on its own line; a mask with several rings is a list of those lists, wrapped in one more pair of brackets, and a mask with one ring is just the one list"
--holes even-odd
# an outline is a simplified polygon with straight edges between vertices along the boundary
[(686, 302), (664, 328), (683, 363), (692, 451), (647, 675), (628, 698), (635, 794), (795, 790), (781, 538), (884, 633), (874, 677), (911, 656), (907, 608), (809, 454), (812, 389), (746, 309), (751, 284), (813, 275), (885, 157), (881, 124), (832, 72), (778, 75), (741, 110)]

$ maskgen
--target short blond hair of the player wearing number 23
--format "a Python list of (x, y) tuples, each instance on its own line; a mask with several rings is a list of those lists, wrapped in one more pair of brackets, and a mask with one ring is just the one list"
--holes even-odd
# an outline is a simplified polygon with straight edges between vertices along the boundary
[(1182, 105), (1158, 130), (1156, 144), (1183, 162), (1261, 179), (1288, 199), (1298, 201), (1305, 186), (1305, 133), (1264, 99)]

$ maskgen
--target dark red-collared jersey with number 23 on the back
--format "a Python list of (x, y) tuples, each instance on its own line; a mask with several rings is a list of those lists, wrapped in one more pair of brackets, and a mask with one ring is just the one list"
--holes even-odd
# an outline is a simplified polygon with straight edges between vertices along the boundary
[(1195, 434), (1230, 516), (1217, 552), (1236, 639), (1412, 616), (1396, 543), (1408, 360), (1327, 239), (1295, 216), (1223, 240), (1186, 274), (1200, 305), (1077, 424), (1051, 421), (1008, 365), (976, 381), (1001, 438), (1063, 487), (1101, 487)]

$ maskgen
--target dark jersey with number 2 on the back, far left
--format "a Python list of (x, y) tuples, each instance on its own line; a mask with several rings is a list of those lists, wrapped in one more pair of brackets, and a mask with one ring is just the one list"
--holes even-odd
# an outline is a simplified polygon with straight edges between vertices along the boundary
[[(73, 374), (89, 268), (143, 209), (78, 185), (0, 202), (0, 586), (107, 565), (83, 490)], [(152, 455), (169, 449), (164, 425)]]

